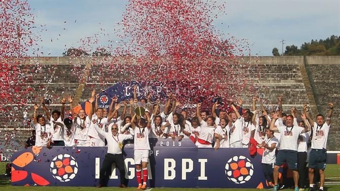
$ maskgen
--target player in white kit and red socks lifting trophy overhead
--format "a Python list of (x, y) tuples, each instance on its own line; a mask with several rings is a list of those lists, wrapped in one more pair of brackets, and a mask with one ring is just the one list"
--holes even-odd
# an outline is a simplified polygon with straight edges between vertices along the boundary
[[(147, 117), (148, 122), (144, 118), (138, 119), (137, 125), (134, 120), (137, 115), (134, 113), (131, 119), (131, 127), (134, 130), (134, 164), (136, 165), (136, 175), (138, 181), (138, 189), (146, 189), (148, 179), (148, 160), (149, 160), (149, 133), (151, 131), (151, 120)], [(142, 170), (143, 170), (143, 185), (142, 185)]]

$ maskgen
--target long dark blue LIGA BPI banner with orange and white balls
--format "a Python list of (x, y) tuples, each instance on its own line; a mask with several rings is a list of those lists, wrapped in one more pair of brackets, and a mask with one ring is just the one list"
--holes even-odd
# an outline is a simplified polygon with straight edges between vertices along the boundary
[[(150, 139), (148, 186), (263, 188), (262, 149), (255, 157), (247, 148), (197, 148), (190, 140)], [(12, 156), (12, 185), (96, 186), (107, 147), (29, 147)], [(133, 140), (126, 141), (127, 186), (137, 186)], [(143, 176), (142, 176), (143, 177)], [(112, 166), (108, 186), (119, 185)]]

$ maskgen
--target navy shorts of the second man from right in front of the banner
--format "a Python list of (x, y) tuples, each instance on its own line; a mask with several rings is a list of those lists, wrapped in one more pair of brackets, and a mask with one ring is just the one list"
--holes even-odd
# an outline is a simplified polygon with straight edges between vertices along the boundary
[(288, 164), (288, 168), (297, 170), (297, 151), (295, 150), (279, 150), (276, 156), (275, 165), (281, 166), (285, 163)]

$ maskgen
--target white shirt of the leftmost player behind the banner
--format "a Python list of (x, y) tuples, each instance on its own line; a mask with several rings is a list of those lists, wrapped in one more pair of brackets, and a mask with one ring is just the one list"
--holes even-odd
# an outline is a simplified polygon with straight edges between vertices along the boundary
[[(41, 126), (39, 123), (35, 125), (36, 129), (36, 146), (46, 146), (48, 139), (53, 136), (53, 128), (49, 124)], [(42, 137), (43, 136), (43, 137)]]

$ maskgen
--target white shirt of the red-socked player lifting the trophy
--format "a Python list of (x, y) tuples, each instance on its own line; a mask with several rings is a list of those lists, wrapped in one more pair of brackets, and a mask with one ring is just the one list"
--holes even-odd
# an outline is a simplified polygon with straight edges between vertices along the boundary
[(151, 128), (134, 128), (134, 150), (142, 149), (142, 150), (150, 150), (150, 143), (149, 143), (149, 134)]

